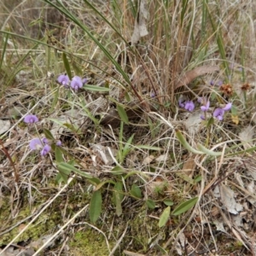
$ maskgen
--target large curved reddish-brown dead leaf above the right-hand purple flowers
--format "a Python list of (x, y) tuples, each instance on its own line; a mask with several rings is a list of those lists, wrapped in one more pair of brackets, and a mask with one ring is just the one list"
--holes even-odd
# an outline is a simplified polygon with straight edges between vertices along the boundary
[(201, 67), (195, 67), (194, 69), (184, 73), (183, 77), (179, 79), (175, 89), (191, 83), (194, 79), (207, 74), (207, 73), (214, 73), (219, 71), (218, 66), (201, 66)]

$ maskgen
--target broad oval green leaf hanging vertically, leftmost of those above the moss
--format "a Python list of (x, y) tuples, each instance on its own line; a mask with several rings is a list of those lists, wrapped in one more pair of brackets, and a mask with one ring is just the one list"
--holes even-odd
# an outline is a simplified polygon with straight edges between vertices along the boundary
[(90, 221), (96, 223), (96, 220), (100, 217), (102, 213), (102, 193), (100, 190), (93, 192), (90, 199)]

